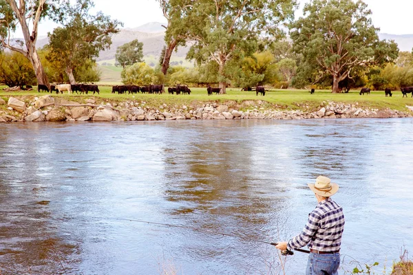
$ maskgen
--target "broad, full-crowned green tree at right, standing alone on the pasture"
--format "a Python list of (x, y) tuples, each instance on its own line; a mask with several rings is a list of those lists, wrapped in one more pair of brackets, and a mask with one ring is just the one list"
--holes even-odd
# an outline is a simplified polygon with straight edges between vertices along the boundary
[[(383, 65), (397, 56), (393, 41), (379, 41), (363, 1), (314, 0), (304, 6), (304, 16), (290, 25), (295, 52), (303, 63), (297, 75), (321, 79), (332, 76), (332, 93), (357, 67)], [(296, 80), (297, 82), (297, 80)], [(317, 79), (314, 81), (317, 82)]]

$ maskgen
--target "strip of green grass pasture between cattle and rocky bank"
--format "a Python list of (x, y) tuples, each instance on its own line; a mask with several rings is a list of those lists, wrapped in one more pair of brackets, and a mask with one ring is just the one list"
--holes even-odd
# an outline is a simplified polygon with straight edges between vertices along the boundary
[[(176, 107), (186, 105), (199, 105), (207, 102), (226, 103), (231, 106), (255, 107), (257, 100), (261, 100), (260, 107), (272, 107), (277, 109), (301, 109), (314, 110), (328, 104), (328, 101), (342, 102), (344, 104), (356, 104), (358, 107), (370, 107), (374, 109), (396, 109), (406, 111), (406, 105), (413, 106), (413, 98), (402, 98), (401, 91), (393, 91), (393, 96), (385, 97), (384, 91), (372, 91), (369, 95), (360, 96), (359, 91), (350, 91), (348, 94), (331, 94), (329, 90), (316, 90), (310, 94), (308, 90), (299, 89), (271, 89), (265, 96), (256, 96), (255, 91), (241, 91), (241, 89), (228, 88), (227, 94), (208, 96), (206, 88), (191, 88), (191, 95), (168, 94), (112, 94), (112, 86), (116, 83), (98, 83), (100, 94), (53, 94), (53, 96), (65, 97), (68, 100), (83, 102), (85, 98), (102, 98), (104, 101), (122, 102), (126, 100), (142, 100), (147, 105), (158, 107), (167, 104)], [(43, 96), (47, 93), (33, 91), (3, 91), (5, 86), (0, 86), (0, 97), (7, 101), (8, 96)]]

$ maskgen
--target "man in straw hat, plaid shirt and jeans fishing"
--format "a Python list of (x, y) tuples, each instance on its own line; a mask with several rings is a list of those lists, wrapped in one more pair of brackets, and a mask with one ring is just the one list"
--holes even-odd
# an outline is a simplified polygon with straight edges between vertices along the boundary
[(275, 247), (284, 251), (308, 245), (310, 256), (306, 275), (338, 275), (344, 214), (343, 208), (330, 197), (335, 195), (339, 186), (330, 182), (328, 177), (319, 176), (315, 184), (308, 184), (308, 187), (315, 193), (317, 207), (308, 215), (301, 234)]

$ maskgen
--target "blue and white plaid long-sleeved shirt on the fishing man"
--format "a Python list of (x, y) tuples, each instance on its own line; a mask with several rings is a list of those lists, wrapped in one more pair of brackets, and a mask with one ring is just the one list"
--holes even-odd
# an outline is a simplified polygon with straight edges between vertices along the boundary
[(313, 250), (335, 252), (340, 250), (343, 230), (343, 208), (328, 198), (320, 201), (315, 210), (308, 214), (303, 231), (288, 241), (287, 248), (293, 250), (308, 244), (308, 248)]

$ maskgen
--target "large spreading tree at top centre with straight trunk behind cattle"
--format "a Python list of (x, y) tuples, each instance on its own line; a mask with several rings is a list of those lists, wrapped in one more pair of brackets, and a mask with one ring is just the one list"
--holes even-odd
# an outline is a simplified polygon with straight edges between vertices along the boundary
[[(174, 10), (172, 23), (180, 21), (187, 41), (194, 41), (187, 58), (218, 65), (221, 93), (226, 93), (227, 63), (233, 58), (251, 56), (258, 41), (277, 40), (284, 35), (280, 25), (293, 19), (295, 0), (262, 1), (169, 1)], [(182, 32), (181, 32), (182, 33)]]

